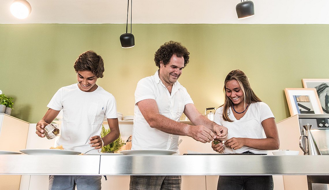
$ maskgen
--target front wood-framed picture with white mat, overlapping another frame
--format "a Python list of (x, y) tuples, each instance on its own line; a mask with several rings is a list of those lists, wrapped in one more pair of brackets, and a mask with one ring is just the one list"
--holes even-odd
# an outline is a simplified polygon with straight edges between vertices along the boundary
[(290, 115), (300, 113), (323, 114), (315, 88), (285, 88)]

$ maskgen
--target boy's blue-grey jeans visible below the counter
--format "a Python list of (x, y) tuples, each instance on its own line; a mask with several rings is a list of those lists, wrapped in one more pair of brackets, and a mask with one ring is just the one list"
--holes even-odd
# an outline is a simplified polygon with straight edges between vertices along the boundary
[(49, 190), (100, 190), (102, 176), (49, 176)]

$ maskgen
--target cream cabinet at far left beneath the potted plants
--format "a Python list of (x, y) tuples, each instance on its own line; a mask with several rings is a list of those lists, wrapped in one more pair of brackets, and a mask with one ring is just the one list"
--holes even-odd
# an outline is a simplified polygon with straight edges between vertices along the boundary
[[(0, 150), (19, 152), (25, 149), (29, 123), (13, 116), (0, 114)], [(19, 189), (20, 175), (0, 175), (0, 189)]]

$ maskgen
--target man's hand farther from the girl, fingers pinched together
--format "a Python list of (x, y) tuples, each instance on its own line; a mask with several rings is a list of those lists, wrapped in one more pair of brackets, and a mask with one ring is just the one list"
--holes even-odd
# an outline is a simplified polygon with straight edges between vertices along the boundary
[(203, 125), (191, 126), (188, 132), (188, 136), (203, 143), (211, 142), (216, 138), (216, 135), (213, 133), (213, 131)]

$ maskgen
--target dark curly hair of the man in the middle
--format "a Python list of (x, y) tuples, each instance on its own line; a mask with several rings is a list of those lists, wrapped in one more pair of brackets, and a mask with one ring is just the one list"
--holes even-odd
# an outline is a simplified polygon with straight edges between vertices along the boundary
[(164, 45), (160, 46), (160, 48), (155, 52), (155, 65), (160, 68), (160, 61), (162, 61), (164, 65), (168, 64), (172, 55), (176, 55), (179, 58), (183, 57), (184, 67), (189, 63), (190, 52), (188, 52), (187, 48), (177, 41), (168, 41), (164, 43)]

